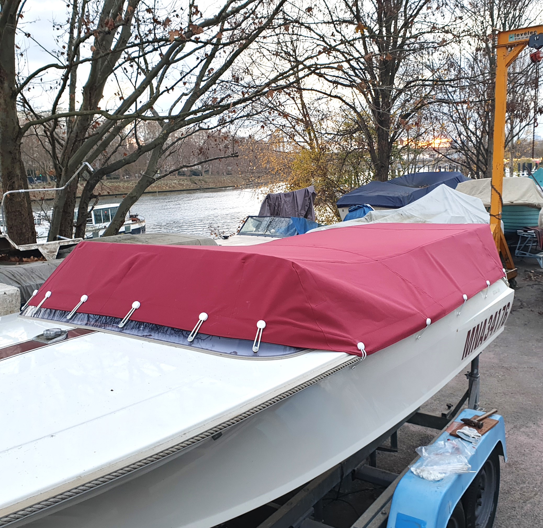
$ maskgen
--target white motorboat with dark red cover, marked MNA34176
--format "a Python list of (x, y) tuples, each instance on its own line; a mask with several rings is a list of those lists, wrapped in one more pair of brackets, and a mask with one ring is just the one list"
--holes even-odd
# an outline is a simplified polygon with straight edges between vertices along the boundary
[[(9, 403), (0, 410), (0, 526), (209, 528), (329, 469), (411, 414), (503, 331), (513, 290), (487, 230), (347, 227), (250, 249), (147, 246), (146, 259), (141, 246), (81, 243), (23, 317), (0, 321), (0, 391)], [(346, 240), (350, 252), (340, 243)], [(431, 258), (422, 262), (427, 252)], [(96, 273), (82, 276), (81, 262)], [(112, 262), (119, 268), (112, 270)], [(162, 288), (173, 270), (168, 262), (190, 279), (171, 277), (170, 288)], [(311, 276), (300, 267), (304, 262)], [(376, 262), (386, 266), (375, 271)], [(260, 266), (266, 263), (275, 265)], [(319, 275), (315, 270), (323, 265), (328, 273)], [(236, 266), (243, 280), (209, 281), (210, 269), (228, 279), (231, 269), (241, 269)], [(331, 271), (339, 269), (345, 276), (333, 282)], [(374, 276), (365, 276), (369, 269)], [(288, 270), (303, 278), (300, 285), (289, 282), (294, 271)], [(382, 273), (398, 282), (383, 282)], [(333, 301), (343, 304), (330, 310), (338, 281), (347, 278), (349, 285), (355, 276), (360, 282), (340, 291)], [(244, 290), (245, 279), (255, 291)], [(291, 311), (290, 301), (296, 306), (308, 284), (315, 294), (304, 290), (309, 307), (301, 303)], [(352, 292), (362, 285), (365, 300), (352, 313)], [(383, 297), (376, 297), (380, 288)], [(83, 290), (86, 300), (74, 303)], [(136, 295), (140, 307), (133, 303), (125, 313)], [(217, 307), (209, 319), (197, 319), (193, 314), (211, 298)], [(424, 323), (411, 302), (435, 320)], [(222, 327), (220, 313), (228, 306), (234, 316)], [(405, 312), (406, 319), (394, 316), (389, 324), (383, 306)], [(245, 328), (243, 309), (252, 319), (266, 312), (267, 325)], [(308, 327), (305, 318), (313, 312), (324, 341), (320, 330)], [(325, 323), (336, 324), (337, 332)], [(43, 335), (52, 327), (59, 330)], [(260, 348), (252, 339), (256, 328)], [(300, 346), (312, 339), (326, 349)], [(334, 351), (336, 343), (353, 340), (344, 347), (349, 353)]]

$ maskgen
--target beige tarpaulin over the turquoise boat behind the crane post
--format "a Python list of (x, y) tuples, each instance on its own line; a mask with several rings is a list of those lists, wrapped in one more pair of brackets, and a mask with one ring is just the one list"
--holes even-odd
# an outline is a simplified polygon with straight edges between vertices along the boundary
[[(490, 178), (459, 183), (456, 190), (475, 196), (490, 207)], [(503, 205), (527, 205), (543, 207), (543, 193), (531, 178), (512, 177), (503, 179)]]

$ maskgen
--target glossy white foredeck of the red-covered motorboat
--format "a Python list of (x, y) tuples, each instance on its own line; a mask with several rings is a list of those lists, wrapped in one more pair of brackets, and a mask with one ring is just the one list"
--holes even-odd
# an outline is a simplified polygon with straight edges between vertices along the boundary
[[(61, 327), (5, 316), (0, 342), (53, 326)], [(308, 352), (250, 361), (100, 332), (13, 355), (0, 361), (10, 402), (1, 411), (0, 513), (184, 442), (358, 359)]]

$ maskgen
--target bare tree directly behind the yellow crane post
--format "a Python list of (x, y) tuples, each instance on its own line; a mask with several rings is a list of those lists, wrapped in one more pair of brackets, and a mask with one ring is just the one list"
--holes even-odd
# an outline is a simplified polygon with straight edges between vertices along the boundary
[[(448, 53), (446, 78), (440, 83), (435, 110), (441, 126), (437, 134), (451, 138), (449, 157), (467, 174), (479, 178), (492, 173), (494, 84), (498, 30), (529, 26), (541, 13), (532, 0), (457, 2), (465, 22), (460, 46)], [(509, 70), (506, 145), (512, 163), (515, 144), (531, 124), (534, 66), (519, 58)], [(438, 100), (439, 103), (439, 100)]]

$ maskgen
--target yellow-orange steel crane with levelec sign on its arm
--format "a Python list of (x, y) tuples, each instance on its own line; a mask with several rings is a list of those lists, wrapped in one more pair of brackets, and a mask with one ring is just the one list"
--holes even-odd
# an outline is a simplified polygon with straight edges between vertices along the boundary
[[(490, 229), (498, 251), (506, 265), (507, 278), (516, 277), (513, 257), (502, 231), (503, 156), (506, 142), (507, 70), (526, 46), (543, 46), (543, 26), (512, 29), (498, 33), (496, 49), (496, 87), (494, 113), (494, 149), (492, 155), (492, 186), (490, 196)], [(541, 54), (532, 54), (532, 60), (541, 60)]]

